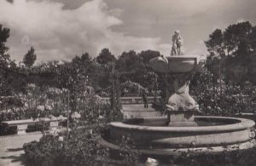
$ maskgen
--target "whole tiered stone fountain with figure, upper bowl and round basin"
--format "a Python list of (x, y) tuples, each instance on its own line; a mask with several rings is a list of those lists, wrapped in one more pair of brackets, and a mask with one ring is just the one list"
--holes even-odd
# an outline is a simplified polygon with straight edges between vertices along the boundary
[[(179, 33), (178, 33), (179, 34)], [(181, 41), (177, 41), (181, 40)], [(149, 156), (181, 152), (222, 152), (255, 145), (254, 122), (237, 117), (195, 116), (199, 106), (189, 95), (189, 79), (201, 70), (206, 58), (183, 55), (182, 38), (172, 37), (172, 55), (159, 56), (149, 65), (156, 72), (172, 74), (174, 91), (166, 104), (166, 117), (131, 118), (110, 123), (106, 146), (119, 149), (124, 137), (137, 151)], [(179, 51), (178, 51), (179, 50)]]

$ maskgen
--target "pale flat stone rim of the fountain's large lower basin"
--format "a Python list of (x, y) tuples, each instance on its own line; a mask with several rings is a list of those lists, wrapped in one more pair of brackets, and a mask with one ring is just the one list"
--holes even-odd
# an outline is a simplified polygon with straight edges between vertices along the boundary
[[(143, 119), (161, 119), (166, 117), (144, 117)], [(143, 131), (159, 131), (159, 132), (227, 132), (227, 131), (237, 131), (242, 129), (252, 128), (255, 123), (253, 120), (239, 118), (239, 117), (215, 117), (215, 116), (195, 116), (196, 118), (215, 118), (215, 119), (229, 119), (237, 121), (237, 123), (231, 124), (221, 124), (221, 125), (212, 125), (212, 126), (142, 126), (136, 124), (127, 124), (122, 122), (113, 122), (110, 123), (110, 126), (119, 129), (134, 129), (134, 130), (143, 130)]]

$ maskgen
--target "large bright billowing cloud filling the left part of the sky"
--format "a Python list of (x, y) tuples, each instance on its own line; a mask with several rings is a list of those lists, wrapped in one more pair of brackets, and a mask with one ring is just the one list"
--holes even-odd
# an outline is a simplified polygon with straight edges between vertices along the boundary
[(109, 48), (119, 55), (125, 50), (160, 49), (158, 37), (131, 37), (113, 31), (123, 22), (120, 9), (108, 9), (102, 0), (84, 3), (77, 9), (63, 9), (63, 3), (19, 0), (0, 2), (0, 22), (11, 30), (9, 53), (15, 60), (33, 46), (38, 61), (70, 60), (83, 51), (96, 56)]

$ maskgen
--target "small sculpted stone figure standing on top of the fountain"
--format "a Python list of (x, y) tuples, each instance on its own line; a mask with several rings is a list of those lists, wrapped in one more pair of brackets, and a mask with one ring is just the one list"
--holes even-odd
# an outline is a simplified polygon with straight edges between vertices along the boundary
[(183, 54), (183, 37), (180, 36), (179, 31), (175, 31), (172, 36), (172, 51), (171, 55)]

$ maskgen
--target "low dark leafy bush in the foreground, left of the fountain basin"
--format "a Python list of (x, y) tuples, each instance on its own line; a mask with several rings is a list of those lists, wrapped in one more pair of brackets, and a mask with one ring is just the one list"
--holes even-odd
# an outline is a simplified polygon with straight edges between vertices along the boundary
[(26, 157), (37, 165), (101, 165), (108, 155), (99, 143), (101, 129), (101, 125), (75, 126), (63, 141), (44, 135), (38, 142), (24, 145)]

